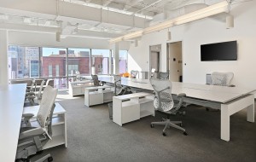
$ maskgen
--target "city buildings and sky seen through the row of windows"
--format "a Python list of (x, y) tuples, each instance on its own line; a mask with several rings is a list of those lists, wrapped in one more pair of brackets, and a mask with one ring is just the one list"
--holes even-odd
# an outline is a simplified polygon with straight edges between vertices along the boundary
[[(90, 75), (90, 67), (96, 68), (96, 74), (109, 74), (109, 63), (113, 62), (110, 55), (109, 49), (57, 49), (10, 45), (9, 76), (10, 79), (58, 78), (67, 77), (67, 73), (69, 76), (74, 75), (76, 71)], [(120, 73), (126, 72), (126, 65), (127, 51), (122, 51), (119, 57)]]

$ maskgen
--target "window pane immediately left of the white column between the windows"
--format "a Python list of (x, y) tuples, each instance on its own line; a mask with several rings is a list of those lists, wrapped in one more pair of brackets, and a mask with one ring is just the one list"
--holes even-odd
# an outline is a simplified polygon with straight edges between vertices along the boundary
[(92, 72), (96, 74), (108, 74), (109, 73), (109, 49), (91, 49), (91, 64)]

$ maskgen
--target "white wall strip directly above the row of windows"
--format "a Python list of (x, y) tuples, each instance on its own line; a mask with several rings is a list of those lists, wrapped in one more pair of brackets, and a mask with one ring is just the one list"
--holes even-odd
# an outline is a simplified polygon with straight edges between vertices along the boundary
[[(38, 46), (38, 47), (63, 47), (63, 48), (91, 48), (113, 49), (106, 39), (96, 38), (61, 38), (61, 42), (55, 39), (55, 33), (38, 32), (9, 32), (9, 44)], [(119, 44), (119, 49), (129, 49), (130, 43)]]

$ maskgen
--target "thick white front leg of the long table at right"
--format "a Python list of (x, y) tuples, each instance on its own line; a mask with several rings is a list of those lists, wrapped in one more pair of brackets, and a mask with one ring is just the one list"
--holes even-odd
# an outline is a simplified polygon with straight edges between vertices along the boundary
[(221, 105), (220, 112), (220, 138), (226, 142), (230, 141), (230, 114), (229, 106)]

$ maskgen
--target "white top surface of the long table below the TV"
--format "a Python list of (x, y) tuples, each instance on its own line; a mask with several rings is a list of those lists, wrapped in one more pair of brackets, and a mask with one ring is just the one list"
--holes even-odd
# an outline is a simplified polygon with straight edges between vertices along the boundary
[[(113, 77), (110, 76), (101, 76), (99, 77), (99, 80), (113, 83)], [(144, 90), (153, 90), (151, 84), (149, 83), (149, 79), (122, 78), (121, 84)], [(185, 93), (188, 97), (191, 98), (206, 101), (217, 101), (220, 103), (235, 100), (242, 95), (255, 93), (255, 91), (256, 90), (244, 89), (241, 87), (225, 87), (218, 85), (172, 82), (172, 94), (174, 95)]]

